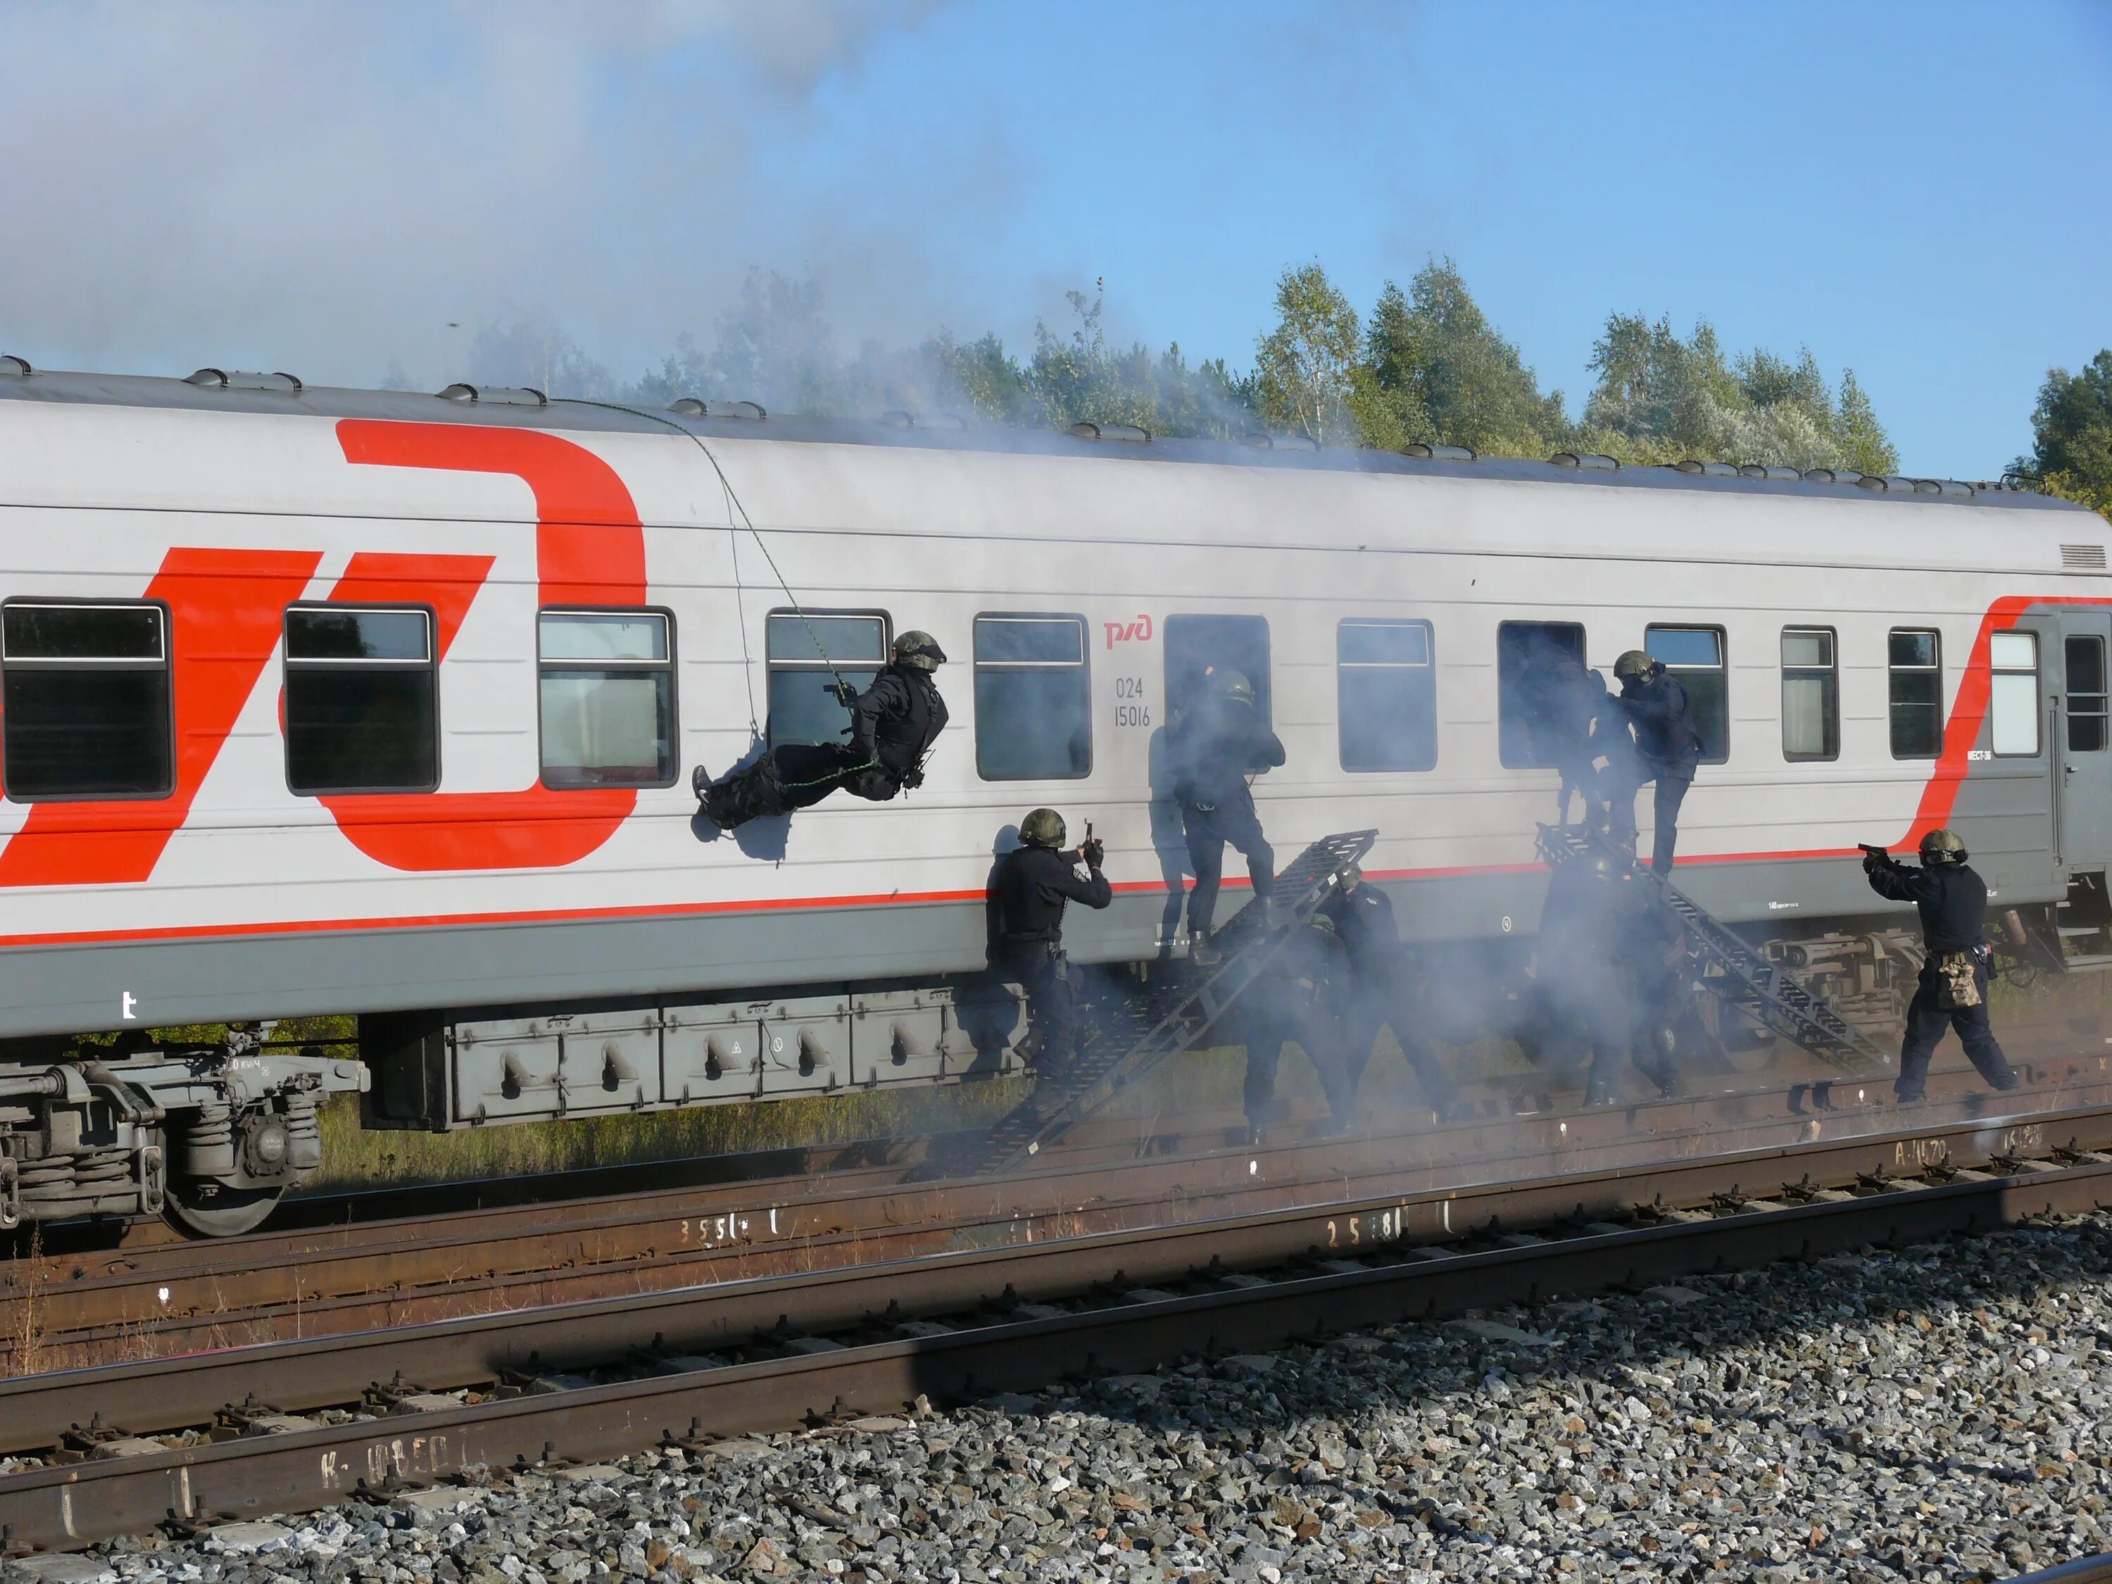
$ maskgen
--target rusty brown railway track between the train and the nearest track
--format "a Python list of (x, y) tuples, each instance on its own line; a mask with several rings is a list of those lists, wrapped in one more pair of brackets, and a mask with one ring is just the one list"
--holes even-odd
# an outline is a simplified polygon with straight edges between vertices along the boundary
[[(2028, 1117), (2061, 1140), (2070, 1119), (2112, 1105), (2104, 1056), (2009, 1096), (1970, 1071), (1932, 1081), (1922, 1128)], [(1426, 1113), (1428, 1115), (1428, 1113)], [(1229, 1119), (1225, 1119), (1229, 1121)], [(1897, 1130), (1888, 1094), (1856, 1083), (1504, 1115), (1360, 1138), (1227, 1149), (1223, 1128), (1100, 1128), (1007, 1181), (910, 1183), (921, 1149), (828, 1174), (689, 1185), (433, 1217), (300, 1227), (230, 1242), (175, 1242), (0, 1267), (0, 1369), (91, 1366), (230, 1345), (298, 1341), (636, 1297), (712, 1282), (788, 1278), (864, 1263), (1086, 1233), (1149, 1231), (1170, 1219), (1265, 1214), (1347, 1193), (1417, 1195), (1559, 1170), (1614, 1185), (1675, 1157), (1753, 1153)], [(1607, 1198), (1611, 1195), (1611, 1198)], [(1622, 1204), (1611, 1187), (1597, 1208)]]

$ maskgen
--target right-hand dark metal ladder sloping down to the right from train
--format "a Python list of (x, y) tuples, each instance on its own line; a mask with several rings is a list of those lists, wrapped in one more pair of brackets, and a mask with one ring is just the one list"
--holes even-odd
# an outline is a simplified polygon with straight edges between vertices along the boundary
[(1635, 885), (1645, 887), (1643, 893), (1652, 904), (1679, 925), (1696, 984), (1848, 1077), (1894, 1071), (1892, 1054), (1827, 1005), (1804, 980), (1755, 953), (1607, 834), (1588, 826), (1540, 826), (1540, 857), (1548, 868), (1588, 860), (1609, 862), (1614, 874), (1628, 874)]

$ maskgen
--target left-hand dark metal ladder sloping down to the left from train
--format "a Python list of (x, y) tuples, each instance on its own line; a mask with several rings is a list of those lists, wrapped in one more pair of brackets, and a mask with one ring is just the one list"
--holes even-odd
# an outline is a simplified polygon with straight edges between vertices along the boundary
[(1037, 1079), (1035, 1094), (1007, 1111), (976, 1143), (948, 1151), (919, 1176), (988, 1176), (1018, 1170), (1056, 1138), (1113, 1100), (1126, 1086), (1155, 1071), (1170, 1056), (1191, 1050), (1219, 1018), (1267, 969), (1269, 959), (1288, 938), (1288, 927), (1301, 925), (1335, 895), (1341, 872), (1356, 864), (1379, 841), (1377, 830), (1352, 830), (1322, 836), (1276, 876), (1274, 921), (1265, 908), (1248, 900), (1210, 940), (1223, 950), (1223, 961), (1204, 974), (1170, 978), (1164, 991), (1147, 997), (1143, 1037), (1126, 1043), (1115, 1007), (1081, 1007), (1077, 1052), (1062, 1079)]

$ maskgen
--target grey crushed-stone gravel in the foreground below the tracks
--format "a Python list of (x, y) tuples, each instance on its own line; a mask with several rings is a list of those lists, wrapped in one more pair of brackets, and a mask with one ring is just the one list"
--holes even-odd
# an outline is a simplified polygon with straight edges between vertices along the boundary
[(46, 1584), (1945, 1580), (2112, 1550), (2112, 1214), (8, 1565)]

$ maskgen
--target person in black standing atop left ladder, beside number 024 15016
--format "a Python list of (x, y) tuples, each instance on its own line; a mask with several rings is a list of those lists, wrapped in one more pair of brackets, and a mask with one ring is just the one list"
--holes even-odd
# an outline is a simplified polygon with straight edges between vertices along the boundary
[(1284, 762), (1282, 741), (1261, 724), (1255, 710), (1252, 682), (1240, 672), (1208, 672), (1204, 684), (1208, 697), (1166, 733), (1189, 866), (1195, 870), (1195, 889), (1189, 893), (1189, 961), (1198, 967), (1223, 961), (1223, 953), (1210, 944), (1210, 921), (1225, 874), (1225, 843), (1246, 857), (1255, 900), (1263, 908), (1276, 889), (1276, 851), (1261, 834), (1246, 777)]

